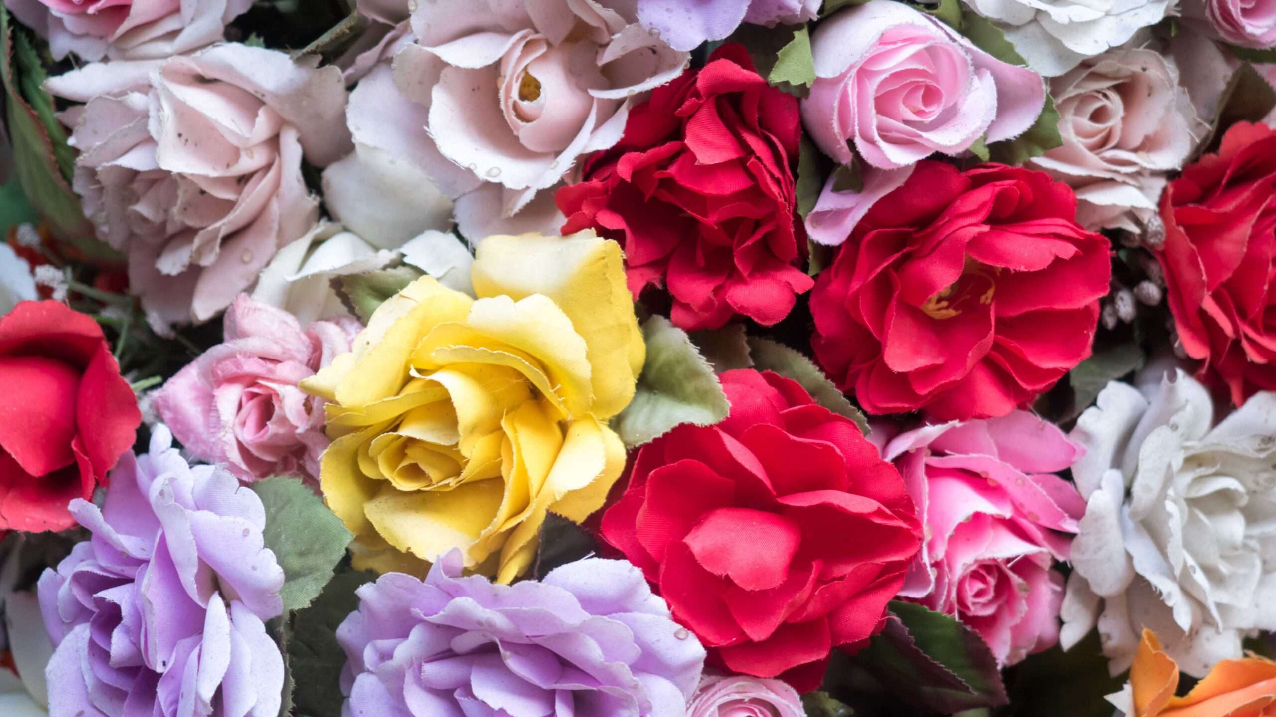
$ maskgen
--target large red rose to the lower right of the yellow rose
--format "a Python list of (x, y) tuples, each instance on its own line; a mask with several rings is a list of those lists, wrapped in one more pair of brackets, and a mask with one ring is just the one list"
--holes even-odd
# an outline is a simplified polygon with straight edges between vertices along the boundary
[(721, 380), (727, 418), (644, 445), (602, 537), (726, 667), (814, 689), (835, 647), (883, 624), (920, 546), (916, 512), (855, 424), (800, 385)]

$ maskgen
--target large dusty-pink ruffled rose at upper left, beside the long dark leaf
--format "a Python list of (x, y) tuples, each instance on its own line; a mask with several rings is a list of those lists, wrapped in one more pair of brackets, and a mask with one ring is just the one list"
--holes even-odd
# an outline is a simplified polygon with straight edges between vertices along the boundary
[(245, 45), (98, 63), (55, 77), (80, 151), (74, 189), (98, 236), (124, 251), (151, 323), (204, 322), (256, 281), (319, 213), (302, 157), (350, 152), (346, 88), (318, 59)]

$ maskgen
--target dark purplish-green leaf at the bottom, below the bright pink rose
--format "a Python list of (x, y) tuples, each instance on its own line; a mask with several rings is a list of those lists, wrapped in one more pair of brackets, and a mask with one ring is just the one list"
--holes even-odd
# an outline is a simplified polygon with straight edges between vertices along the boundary
[(891, 602), (886, 628), (855, 661), (920, 709), (949, 714), (1008, 702), (984, 640), (957, 620), (912, 602)]

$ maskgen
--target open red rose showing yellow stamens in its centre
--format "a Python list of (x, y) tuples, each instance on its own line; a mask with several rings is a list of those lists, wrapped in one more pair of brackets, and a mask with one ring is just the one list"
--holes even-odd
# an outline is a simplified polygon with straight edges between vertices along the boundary
[(812, 292), (819, 364), (873, 413), (1004, 416), (1090, 356), (1109, 244), (1044, 172), (921, 161)]

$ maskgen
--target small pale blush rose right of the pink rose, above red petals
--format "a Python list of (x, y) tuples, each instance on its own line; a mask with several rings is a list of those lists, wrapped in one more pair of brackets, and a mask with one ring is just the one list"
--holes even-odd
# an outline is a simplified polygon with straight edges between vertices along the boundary
[(1050, 96), (1063, 145), (1032, 162), (1077, 193), (1081, 226), (1142, 232), (1165, 175), (1207, 129), (1178, 65), (1152, 50), (1111, 50), (1050, 80)]

